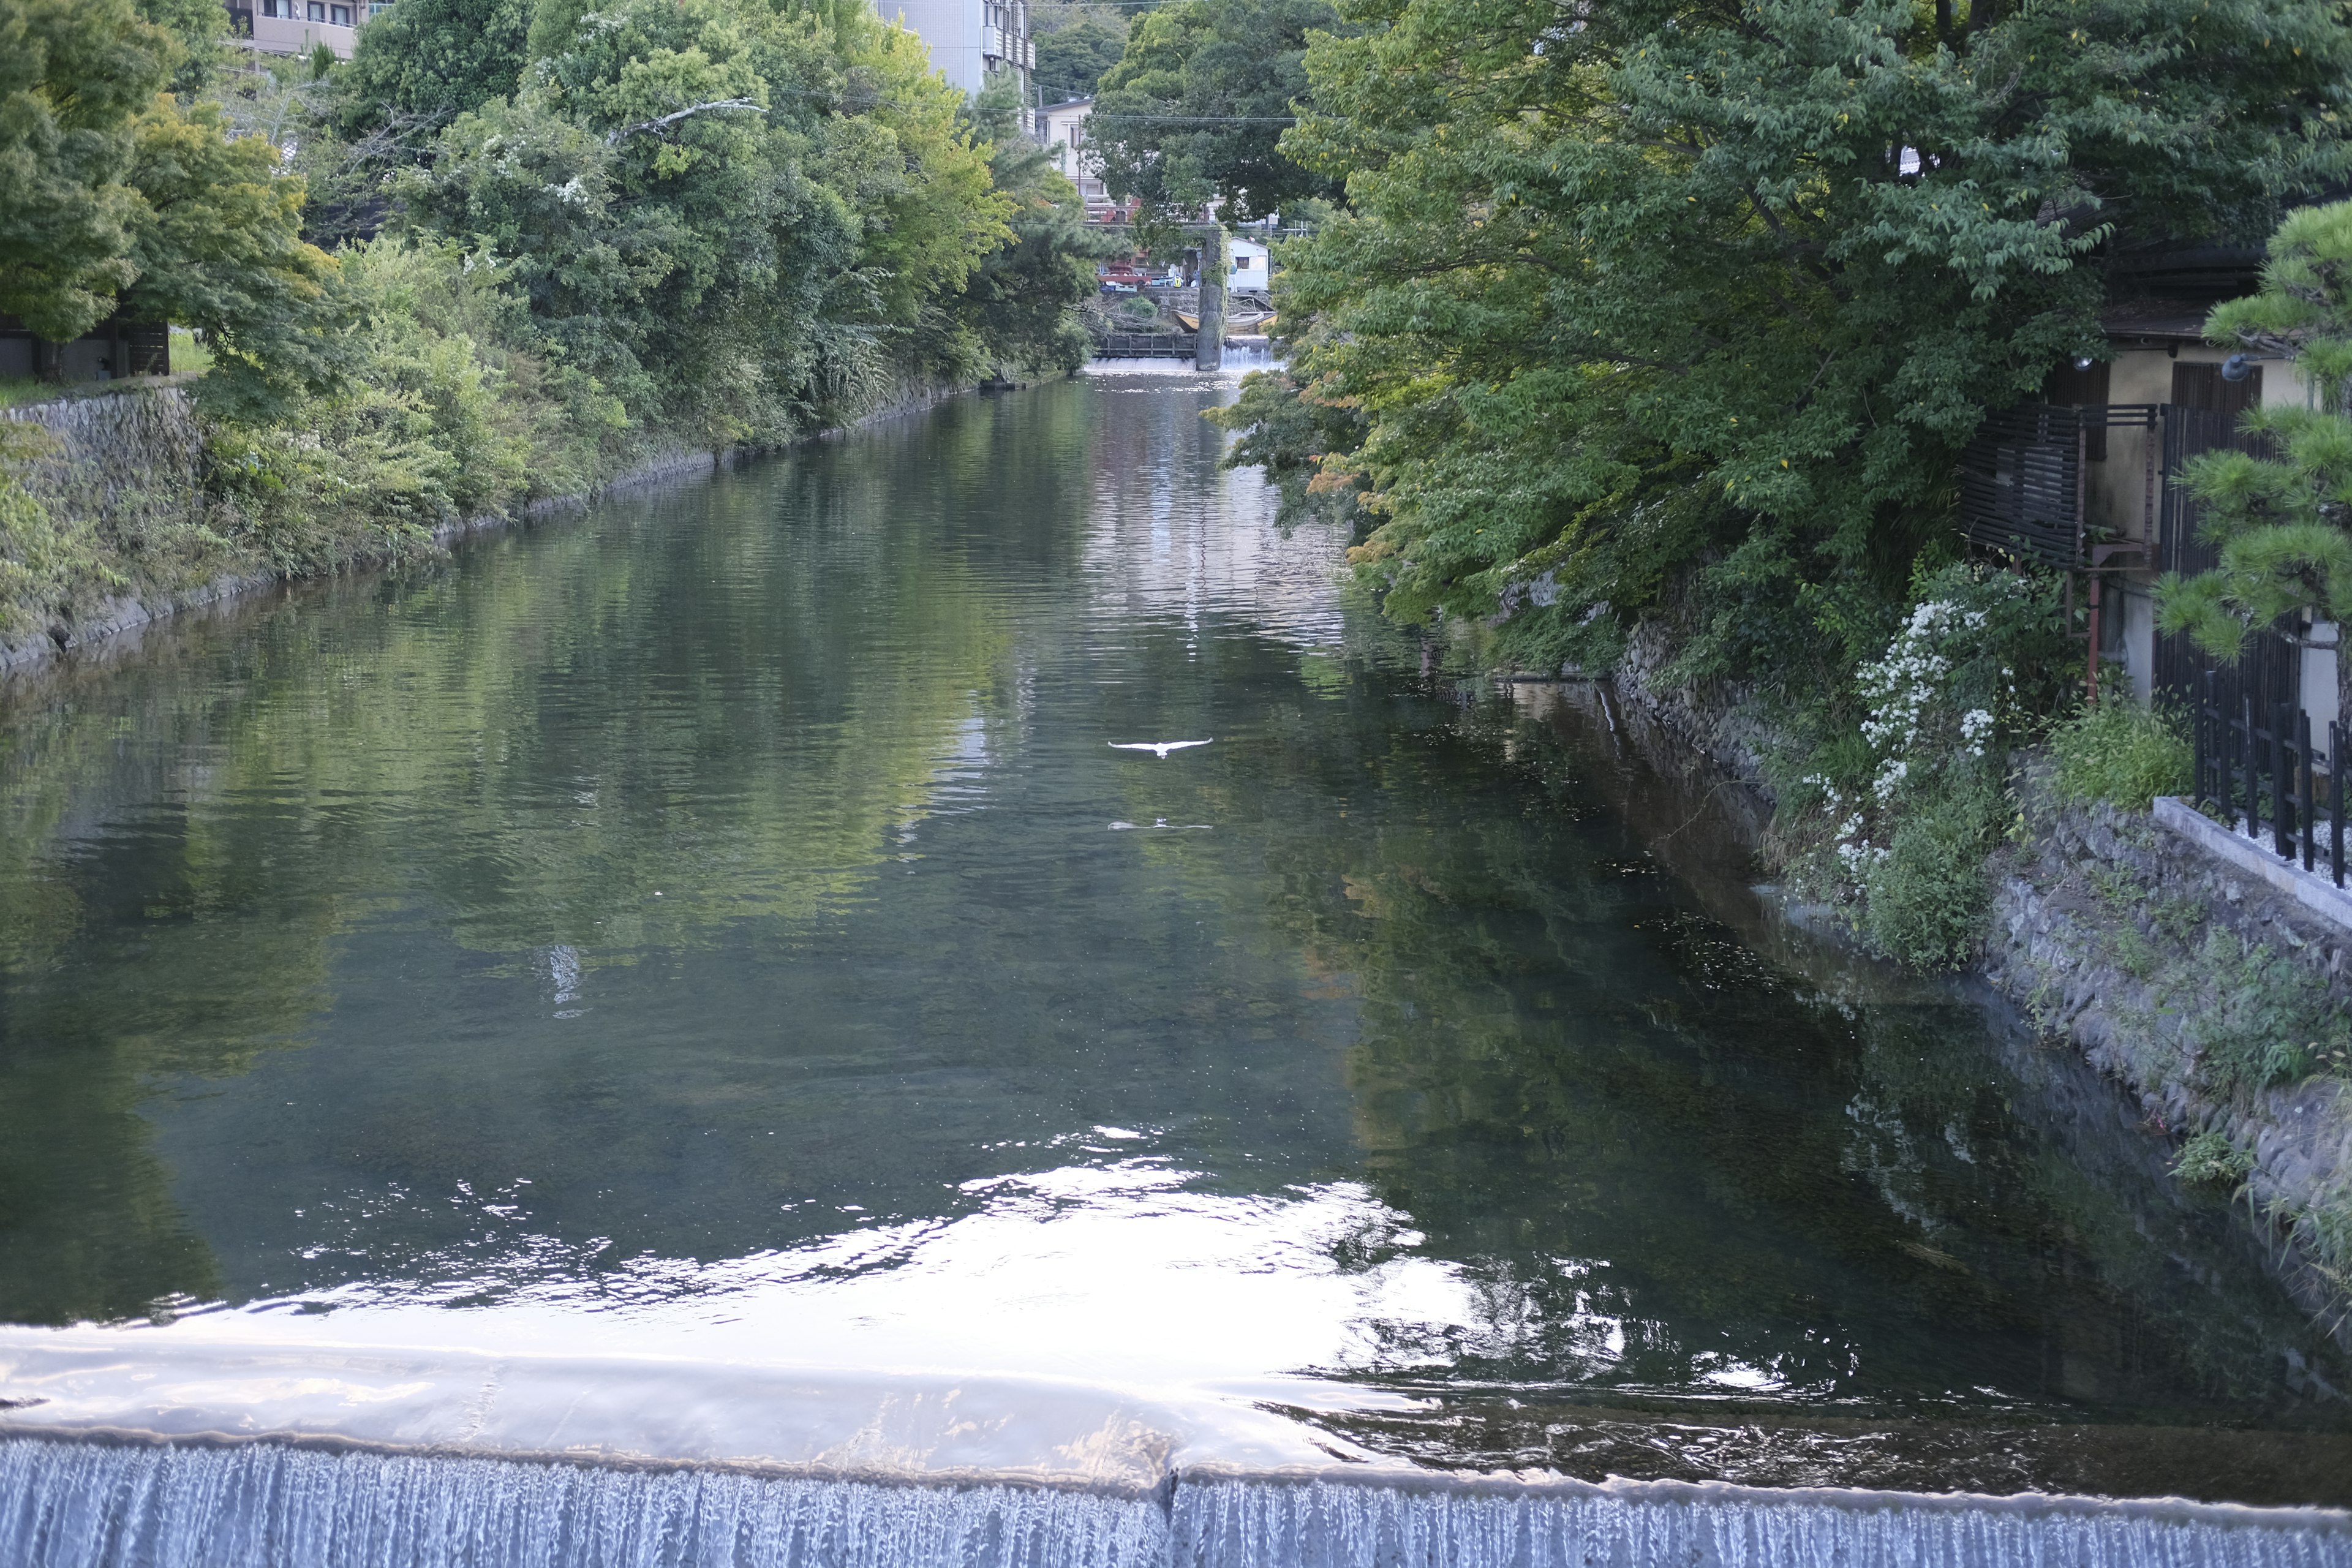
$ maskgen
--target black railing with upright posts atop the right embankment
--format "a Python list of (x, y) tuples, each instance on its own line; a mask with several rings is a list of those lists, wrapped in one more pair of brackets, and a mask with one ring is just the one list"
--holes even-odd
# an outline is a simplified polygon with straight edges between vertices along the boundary
[(2345, 884), (2345, 726), (2328, 722), (2326, 750), (2312, 745), (2300, 703), (2258, 701), (2258, 682), (2206, 670), (2197, 696), (2197, 804), (2303, 870), (2321, 863)]

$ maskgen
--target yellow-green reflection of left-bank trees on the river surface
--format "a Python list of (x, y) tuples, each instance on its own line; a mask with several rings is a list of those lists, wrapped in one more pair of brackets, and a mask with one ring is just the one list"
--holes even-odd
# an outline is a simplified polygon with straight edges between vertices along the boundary
[(856, 898), (1002, 675), (974, 574), (1070, 559), (1084, 409), (1007, 414), (313, 588), (19, 693), (0, 1319), (219, 1291), (139, 1105), (306, 1044), (362, 922), (595, 969)]

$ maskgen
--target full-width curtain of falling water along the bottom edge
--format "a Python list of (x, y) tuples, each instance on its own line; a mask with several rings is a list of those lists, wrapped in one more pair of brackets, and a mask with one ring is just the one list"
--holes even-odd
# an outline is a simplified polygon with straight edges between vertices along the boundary
[[(1395, 1481), (1395, 1472), (1388, 1472)], [(1294, 1476), (898, 1486), (282, 1443), (0, 1441), (7, 1568), (2343, 1568), (2310, 1509)]]

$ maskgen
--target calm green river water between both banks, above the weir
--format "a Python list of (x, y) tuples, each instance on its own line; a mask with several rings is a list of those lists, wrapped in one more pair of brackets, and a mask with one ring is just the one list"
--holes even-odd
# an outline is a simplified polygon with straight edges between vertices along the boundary
[(964, 400), (14, 693), (0, 1319), (2352, 1500), (2345, 1359), (2112, 1086), (1764, 917), (1630, 717), (1425, 672), (1230, 395)]

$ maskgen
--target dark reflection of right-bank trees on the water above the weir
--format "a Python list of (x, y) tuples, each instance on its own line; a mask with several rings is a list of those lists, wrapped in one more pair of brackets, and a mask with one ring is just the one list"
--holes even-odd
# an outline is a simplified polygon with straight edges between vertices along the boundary
[(1345, 712), (1383, 701), (1301, 710), (1284, 752), (1319, 783), (1291, 797), (1378, 827), (1268, 835), (1279, 929), (1359, 994), (1359, 1145), (1477, 1302), (1472, 1328), (1367, 1324), (1371, 1375), (2103, 1413), (2319, 1415), (2298, 1366), (2343, 1387), (2112, 1086), (1945, 990), (1790, 964), (1785, 931), (1764, 957), (1726, 924), (1750, 910), (1663, 875), (1623, 795), (1689, 827), (1698, 790), (1604, 729)]

